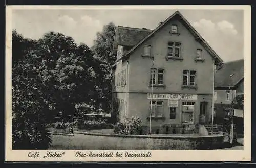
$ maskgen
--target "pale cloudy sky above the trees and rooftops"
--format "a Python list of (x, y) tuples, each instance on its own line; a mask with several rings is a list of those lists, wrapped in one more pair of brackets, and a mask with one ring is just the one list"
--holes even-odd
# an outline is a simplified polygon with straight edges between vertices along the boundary
[[(49, 31), (71, 36), (89, 47), (104, 25), (155, 29), (176, 10), (170, 9), (15, 9), (12, 28), (39, 39)], [(179, 10), (224, 62), (244, 58), (243, 10)]]

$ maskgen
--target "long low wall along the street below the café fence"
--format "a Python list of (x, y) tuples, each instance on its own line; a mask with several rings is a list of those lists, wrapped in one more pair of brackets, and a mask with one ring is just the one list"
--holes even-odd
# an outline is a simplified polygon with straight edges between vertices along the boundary
[[(118, 135), (100, 134), (74, 131), (74, 138), (84, 135), (84, 146), (90, 146), (92, 140), (95, 150), (97, 149), (119, 149), (119, 150), (206, 150), (219, 148), (224, 136), (164, 136), (164, 135)], [(73, 137), (72, 137), (73, 138)], [(86, 140), (91, 139), (91, 140)], [(100, 142), (100, 139), (103, 139)], [(77, 141), (76, 141), (77, 142)], [(98, 144), (98, 145), (97, 145)], [(99, 147), (100, 146), (100, 147)], [(89, 149), (88, 147), (81, 147)]]

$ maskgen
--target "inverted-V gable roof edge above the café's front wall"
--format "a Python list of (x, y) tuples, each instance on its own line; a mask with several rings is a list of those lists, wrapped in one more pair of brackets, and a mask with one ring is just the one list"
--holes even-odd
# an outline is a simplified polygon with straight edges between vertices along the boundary
[(205, 49), (210, 53), (212, 57), (215, 58), (216, 63), (223, 62), (223, 60), (218, 56), (217, 53), (215, 53), (214, 50), (211, 49), (211, 47), (207, 44), (207, 42), (199, 35), (199, 33), (190, 25), (190, 23), (181, 15), (179, 11), (176, 11), (174, 14), (172, 14), (170, 17), (168, 17), (164, 22), (162, 22), (156, 29), (154, 29), (152, 32), (150, 32), (148, 35), (146, 35), (141, 41), (139, 41), (135, 46), (132, 47), (131, 50), (129, 50), (126, 54), (123, 55), (123, 57), (129, 57), (129, 55), (139, 46), (141, 45), (145, 40), (153, 36), (159, 29), (161, 29), (169, 20), (176, 17), (179, 18), (183, 23), (184, 26), (187, 27), (187, 29), (195, 36), (195, 38), (201, 42), (201, 44), (204, 45)]

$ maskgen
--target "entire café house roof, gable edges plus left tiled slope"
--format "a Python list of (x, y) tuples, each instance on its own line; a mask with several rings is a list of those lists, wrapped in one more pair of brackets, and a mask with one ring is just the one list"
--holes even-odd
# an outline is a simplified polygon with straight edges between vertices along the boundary
[(160, 28), (162, 28), (169, 20), (173, 19), (174, 17), (179, 19), (184, 24), (184, 26), (190, 31), (190, 33), (194, 35), (195, 39), (197, 39), (210, 53), (210, 55), (215, 58), (215, 61), (217, 63), (223, 62), (218, 54), (211, 49), (209, 44), (202, 38), (202, 36), (199, 35), (199, 33), (190, 25), (190, 23), (184, 18), (184, 16), (181, 15), (179, 11), (176, 11), (175, 13), (170, 15), (154, 30), (137, 28), (127, 29), (127, 27), (117, 26), (115, 30), (115, 39), (112, 54), (116, 54), (118, 45), (130, 46), (130, 50), (123, 55), (123, 57), (128, 58), (139, 45), (141, 45), (145, 40), (154, 35)]

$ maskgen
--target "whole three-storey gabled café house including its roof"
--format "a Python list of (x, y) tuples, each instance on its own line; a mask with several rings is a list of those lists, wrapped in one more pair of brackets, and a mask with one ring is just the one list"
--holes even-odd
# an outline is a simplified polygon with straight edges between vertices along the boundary
[(179, 11), (154, 30), (116, 26), (112, 114), (144, 124), (211, 122), (214, 63), (222, 59)]

